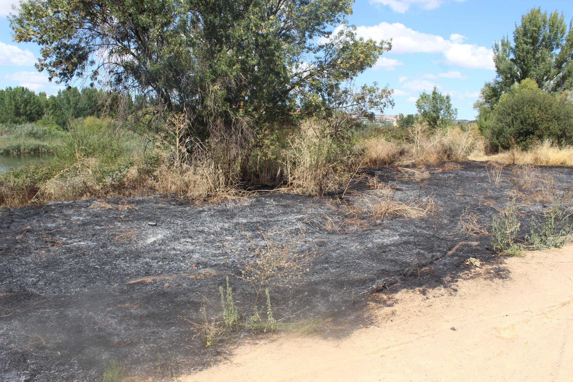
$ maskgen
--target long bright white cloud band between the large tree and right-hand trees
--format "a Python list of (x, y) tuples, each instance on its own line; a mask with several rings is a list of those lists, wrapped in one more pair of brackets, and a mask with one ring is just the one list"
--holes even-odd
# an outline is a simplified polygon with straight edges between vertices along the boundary
[[(335, 29), (337, 32), (340, 27)], [(446, 40), (437, 34), (423, 33), (406, 27), (402, 23), (381, 22), (374, 26), (359, 26), (356, 33), (373, 40), (392, 39), (390, 53), (442, 53), (448, 65), (464, 68), (494, 70), (492, 50), (475, 44), (462, 44), (464, 36), (454, 33)]]

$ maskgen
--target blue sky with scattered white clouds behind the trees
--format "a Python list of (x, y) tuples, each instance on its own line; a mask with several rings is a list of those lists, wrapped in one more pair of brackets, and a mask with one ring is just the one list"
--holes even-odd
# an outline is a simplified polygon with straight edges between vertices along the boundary
[[(40, 49), (16, 44), (6, 15), (13, 0), (0, 0), (0, 88), (28, 86), (56, 93), (60, 86), (37, 73)], [(358, 82), (377, 81), (395, 90), (394, 109), (387, 114), (414, 113), (415, 100), (434, 85), (452, 97), (458, 118), (474, 119), (472, 108), (485, 81), (495, 76), (494, 41), (515, 29), (532, 7), (558, 10), (567, 24), (573, 17), (571, 0), (356, 0), (350, 23), (358, 33), (376, 40), (393, 38), (393, 49)]]

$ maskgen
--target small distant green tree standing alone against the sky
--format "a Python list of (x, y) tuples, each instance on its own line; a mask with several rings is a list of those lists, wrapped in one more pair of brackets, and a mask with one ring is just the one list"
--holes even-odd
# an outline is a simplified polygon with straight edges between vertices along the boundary
[(458, 115), (458, 109), (452, 108), (450, 94), (444, 96), (435, 86), (430, 94), (420, 94), (416, 108), (422, 119), (433, 129), (447, 127)]

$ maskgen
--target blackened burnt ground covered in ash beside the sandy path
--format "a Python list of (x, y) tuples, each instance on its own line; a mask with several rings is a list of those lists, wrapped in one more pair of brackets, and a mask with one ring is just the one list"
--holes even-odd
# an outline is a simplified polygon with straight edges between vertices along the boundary
[[(389, 290), (381, 293), (453, 284), (469, 257), (499, 264), (504, 277), (489, 237), (468, 238), (458, 222), (467, 207), (490, 221), (523, 175), (516, 170), (505, 167), (499, 186), (484, 163), (427, 167), (430, 178), (422, 182), (397, 180), (396, 168), (367, 170), (393, 182), (400, 200), (433, 196), (437, 211), (345, 229), (329, 226), (329, 218), (342, 221), (344, 203), (351, 202), (338, 196), (269, 193), (203, 206), (155, 196), (106, 200), (132, 208), (93, 208), (96, 200), (82, 200), (0, 210), (0, 382), (101, 381), (111, 360), (130, 376), (162, 380), (221, 360), (225, 345), (205, 348), (178, 317), (200, 322), (203, 296), (217, 305), (227, 275), (248, 314), (252, 287), (232, 275), (250, 246), (247, 236), (260, 241), (260, 230), (277, 240), (303, 230), (297, 250), (319, 249), (304, 284), (277, 289), (271, 298), (277, 319), (337, 322), (325, 335), (360, 320), (369, 296), (363, 292), (384, 282)], [(537, 171), (541, 179), (552, 176), (558, 191), (573, 182), (573, 168)], [(372, 192), (364, 184), (355, 188)], [(519, 239), (529, 215), (549, 204), (520, 205)]]

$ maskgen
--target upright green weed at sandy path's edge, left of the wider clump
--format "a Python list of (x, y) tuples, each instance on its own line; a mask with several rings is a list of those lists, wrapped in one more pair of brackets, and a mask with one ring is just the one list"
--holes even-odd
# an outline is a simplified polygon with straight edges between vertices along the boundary
[(515, 198), (492, 219), (491, 238), (493, 250), (500, 255), (516, 255), (521, 253), (519, 246), (513, 243), (520, 222), (517, 220)]

